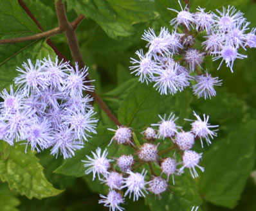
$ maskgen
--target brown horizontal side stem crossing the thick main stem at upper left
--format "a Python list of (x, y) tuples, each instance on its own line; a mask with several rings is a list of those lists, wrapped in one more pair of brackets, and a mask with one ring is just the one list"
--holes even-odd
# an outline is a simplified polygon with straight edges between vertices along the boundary
[[(84, 15), (79, 15), (75, 21), (71, 22), (71, 28), (75, 30), (78, 26), (78, 24), (84, 19)], [(9, 43), (17, 43), (17, 42), (24, 42), (28, 40), (38, 40), (41, 38), (48, 38), (53, 35), (58, 35), (60, 33), (64, 32), (59, 26), (57, 28), (54, 28), (53, 30), (44, 31), (42, 33), (39, 33), (37, 35), (30, 35), (28, 37), (19, 37), (19, 38), (10, 38), (10, 39), (4, 39), (0, 40), (0, 44), (9, 44)]]

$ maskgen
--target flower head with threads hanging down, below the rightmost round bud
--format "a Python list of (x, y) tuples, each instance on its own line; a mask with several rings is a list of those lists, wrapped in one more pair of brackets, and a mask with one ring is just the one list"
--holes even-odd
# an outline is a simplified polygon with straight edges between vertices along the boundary
[(190, 170), (192, 178), (196, 178), (198, 174), (195, 167), (198, 167), (202, 172), (205, 171), (203, 167), (198, 165), (201, 158), (202, 153), (198, 154), (196, 153), (196, 151), (186, 150), (182, 156), (183, 167), (179, 169), (179, 173), (183, 173), (184, 169), (188, 168)]

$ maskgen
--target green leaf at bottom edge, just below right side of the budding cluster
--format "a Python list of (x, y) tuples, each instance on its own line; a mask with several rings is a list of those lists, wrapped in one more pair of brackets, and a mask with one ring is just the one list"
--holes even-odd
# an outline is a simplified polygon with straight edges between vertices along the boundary
[(175, 185), (170, 188), (170, 191), (161, 194), (161, 199), (154, 194), (149, 194), (145, 198), (146, 204), (152, 211), (187, 211), (202, 203), (196, 182), (190, 173), (175, 176)]

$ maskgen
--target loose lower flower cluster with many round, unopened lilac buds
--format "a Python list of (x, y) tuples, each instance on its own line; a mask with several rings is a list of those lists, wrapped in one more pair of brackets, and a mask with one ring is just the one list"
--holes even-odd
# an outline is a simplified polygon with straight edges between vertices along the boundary
[[(183, 131), (181, 126), (176, 125), (178, 117), (174, 114), (171, 113), (168, 118), (166, 115), (160, 116), (161, 121), (151, 125), (156, 126), (157, 130), (149, 127), (142, 131), (143, 144), (138, 144), (138, 140), (134, 141), (137, 138), (132, 128), (109, 128), (114, 131), (110, 143), (131, 147), (134, 154), (109, 159), (107, 149), (102, 152), (102, 149), (97, 148), (96, 153), (91, 152), (92, 157), (86, 155), (87, 159), (82, 160), (86, 167), (85, 173), (93, 173), (93, 180), (98, 176), (98, 179), (109, 187), (109, 194), (100, 195), (102, 199), (99, 203), (104, 203), (110, 210), (123, 210), (120, 205), (124, 203), (125, 196), (133, 198), (134, 201), (140, 197), (145, 198), (149, 192), (160, 196), (162, 192), (170, 189), (170, 176), (174, 185), (174, 176), (183, 174), (185, 169), (189, 169), (193, 178), (198, 176), (196, 167), (204, 171), (204, 167), (199, 165), (202, 153), (192, 151), (192, 146), (196, 139), (201, 140), (202, 147), (203, 140), (209, 145), (210, 139), (217, 136), (217, 130), (211, 129), (217, 126), (211, 126), (208, 123), (209, 117), (205, 114), (203, 120), (195, 112), (194, 116), (196, 120), (187, 120), (192, 121), (190, 131)], [(160, 151), (164, 141), (169, 142), (170, 148)], [(169, 154), (166, 155), (167, 153)], [(161, 169), (161, 173), (154, 173), (154, 169)]]

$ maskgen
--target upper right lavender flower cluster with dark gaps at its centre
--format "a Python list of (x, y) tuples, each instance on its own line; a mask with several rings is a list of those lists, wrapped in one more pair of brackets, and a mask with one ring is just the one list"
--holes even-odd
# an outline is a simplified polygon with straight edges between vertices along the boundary
[[(238, 50), (256, 47), (256, 30), (246, 33), (250, 22), (233, 6), (223, 7), (223, 11), (217, 10), (217, 13), (205, 12), (205, 8), (200, 7), (190, 13), (187, 6), (184, 9), (181, 6), (181, 11), (169, 10), (178, 13), (170, 21), (174, 30), (161, 28), (159, 35), (152, 28), (145, 30), (142, 39), (147, 41), (148, 50), (146, 53), (142, 49), (136, 51), (138, 60), (131, 58), (131, 74), (140, 76), (142, 83), (154, 83), (160, 94), (176, 94), (190, 86), (190, 81), (196, 81), (191, 87), (197, 97), (215, 96), (214, 86), (220, 86), (222, 80), (203, 71), (205, 57), (220, 59), (219, 67), (225, 62), (233, 72), (235, 59), (246, 58)], [(179, 26), (183, 26), (184, 33), (176, 31)], [(199, 33), (203, 33), (205, 41), (196, 40)], [(201, 42), (199, 49), (194, 47), (196, 41)]]

